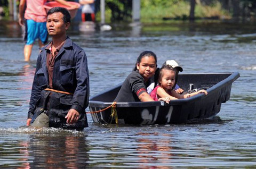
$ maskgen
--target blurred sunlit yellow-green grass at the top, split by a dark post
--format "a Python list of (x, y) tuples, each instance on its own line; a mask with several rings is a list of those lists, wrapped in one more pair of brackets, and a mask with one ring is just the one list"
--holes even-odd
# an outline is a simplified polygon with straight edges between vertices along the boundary
[[(229, 13), (222, 9), (219, 1), (197, 1), (196, 18), (219, 17), (229, 18)], [(202, 2), (202, 3), (201, 3)], [(141, 0), (141, 20), (151, 22), (162, 19), (188, 19), (190, 12), (189, 0)]]

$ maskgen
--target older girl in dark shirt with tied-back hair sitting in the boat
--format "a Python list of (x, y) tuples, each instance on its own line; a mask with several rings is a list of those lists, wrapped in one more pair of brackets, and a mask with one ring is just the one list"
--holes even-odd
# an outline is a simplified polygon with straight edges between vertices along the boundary
[[(150, 102), (153, 98), (147, 93), (149, 79), (153, 77), (157, 67), (156, 54), (151, 51), (142, 52), (137, 58), (134, 70), (123, 82), (116, 102)], [(164, 98), (165, 99), (165, 98)], [(161, 98), (161, 100), (164, 100)]]

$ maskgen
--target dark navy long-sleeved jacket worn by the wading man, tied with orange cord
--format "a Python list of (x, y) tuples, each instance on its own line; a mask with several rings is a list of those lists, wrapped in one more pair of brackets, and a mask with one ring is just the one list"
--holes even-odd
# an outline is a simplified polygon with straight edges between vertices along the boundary
[[(31, 118), (33, 122), (49, 102), (49, 127), (83, 129), (88, 126), (85, 108), (89, 103), (89, 71), (86, 54), (70, 38), (66, 39), (55, 58), (52, 86), (54, 90), (67, 91), (74, 95), (61, 94), (44, 90), (50, 88), (46, 67), (46, 46), (42, 48), (37, 58), (28, 119)], [(70, 108), (76, 109), (80, 114), (79, 120), (73, 125), (66, 124), (65, 119)]]

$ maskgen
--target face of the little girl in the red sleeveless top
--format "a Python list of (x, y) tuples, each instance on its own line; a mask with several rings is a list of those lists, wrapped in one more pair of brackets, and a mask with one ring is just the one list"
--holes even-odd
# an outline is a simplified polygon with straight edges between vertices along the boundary
[(173, 88), (175, 83), (175, 72), (172, 70), (163, 69), (163, 77), (159, 81), (159, 84), (165, 90), (170, 90)]

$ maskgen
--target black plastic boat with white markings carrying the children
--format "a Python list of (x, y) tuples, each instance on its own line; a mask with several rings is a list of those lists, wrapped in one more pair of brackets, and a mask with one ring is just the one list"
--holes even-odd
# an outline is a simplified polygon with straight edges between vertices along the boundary
[[(185, 91), (189, 84), (194, 88), (206, 88), (208, 94), (171, 100), (169, 104), (158, 102), (117, 103), (118, 123), (124, 124), (175, 124), (205, 119), (220, 112), (221, 103), (230, 97), (231, 85), (239, 78), (239, 73), (195, 73), (179, 74), (178, 85)], [(111, 104), (121, 88), (121, 84), (90, 97), (90, 111), (99, 111)], [(111, 108), (93, 113), (92, 119), (98, 123), (115, 123)]]

